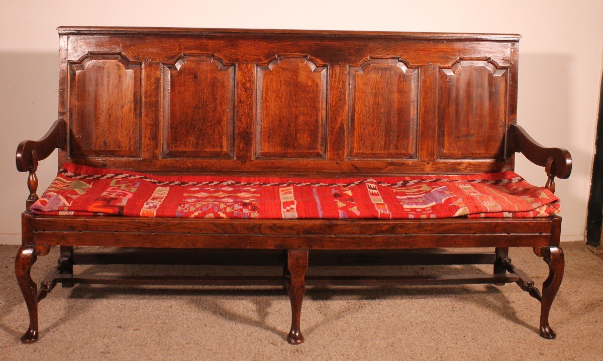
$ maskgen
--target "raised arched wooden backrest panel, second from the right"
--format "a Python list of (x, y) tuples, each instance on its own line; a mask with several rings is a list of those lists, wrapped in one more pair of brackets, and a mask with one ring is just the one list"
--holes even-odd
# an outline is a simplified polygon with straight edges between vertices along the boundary
[(415, 159), (418, 69), (399, 58), (350, 67), (348, 157)]

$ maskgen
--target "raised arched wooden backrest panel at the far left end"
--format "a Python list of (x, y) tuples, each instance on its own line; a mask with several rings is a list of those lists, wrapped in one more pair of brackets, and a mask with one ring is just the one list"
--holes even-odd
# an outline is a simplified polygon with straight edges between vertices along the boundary
[(121, 53), (69, 62), (72, 157), (140, 155), (140, 64)]

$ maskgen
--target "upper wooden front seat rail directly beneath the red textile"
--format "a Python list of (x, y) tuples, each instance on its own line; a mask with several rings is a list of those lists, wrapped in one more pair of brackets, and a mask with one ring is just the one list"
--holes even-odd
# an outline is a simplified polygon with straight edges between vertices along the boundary
[[(60, 222), (57, 220), (60, 219)], [(48, 216), (33, 219), (34, 231), (105, 231), (257, 235), (357, 234), (540, 234), (551, 233), (551, 218), (441, 219), (203, 219), (98, 216)]]

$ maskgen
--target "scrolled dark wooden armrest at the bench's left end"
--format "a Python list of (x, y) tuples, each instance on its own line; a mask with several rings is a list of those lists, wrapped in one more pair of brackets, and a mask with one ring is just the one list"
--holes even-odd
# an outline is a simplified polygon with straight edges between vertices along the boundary
[(24, 140), (17, 146), (17, 170), (35, 171), (37, 161), (48, 158), (54, 149), (65, 148), (65, 120), (58, 119), (39, 140)]

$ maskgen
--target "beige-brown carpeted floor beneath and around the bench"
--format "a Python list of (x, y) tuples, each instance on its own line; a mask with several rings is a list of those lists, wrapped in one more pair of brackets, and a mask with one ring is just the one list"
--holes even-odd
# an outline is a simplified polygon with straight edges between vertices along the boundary
[[(0, 246), (0, 360), (600, 360), (603, 260), (582, 242), (562, 246), (566, 273), (551, 313), (555, 341), (538, 336), (539, 304), (515, 284), (322, 287), (309, 289), (303, 304), (306, 342), (300, 346), (285, 341), (290, 308), (282, 289), (86, 285), (55, 288), (40, 303), (40, 340), (22, 345), (27, 311), (13, 274), (17, 247)], [(53, 250), (39, 258), (36, 280), (57, 257)], [(538, 284), (546, 278), (546, 264), (531, 250), (511, 250), (511, 257)], [(191, 274), (215, 269), (176, 268)], [(460, 269), (370, 268), (375, 274)], [(76, 272), (101, 270), (107, 268), (81, 266)], [(137, 274), (151, 270), (174, 271), (165, 266), (110, 268)]]

